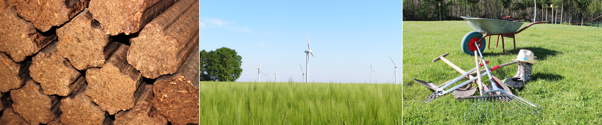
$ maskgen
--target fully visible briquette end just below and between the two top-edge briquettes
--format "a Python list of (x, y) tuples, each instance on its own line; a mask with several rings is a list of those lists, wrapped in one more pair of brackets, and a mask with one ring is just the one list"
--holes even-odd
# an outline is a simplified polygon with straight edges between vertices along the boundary
[(105, 34), (88, 9), (58, 28), (57, 36), (58, 53), (78, 70), (101, 67), (117, 49), (117, 43), (110, 44), (111, 37)]

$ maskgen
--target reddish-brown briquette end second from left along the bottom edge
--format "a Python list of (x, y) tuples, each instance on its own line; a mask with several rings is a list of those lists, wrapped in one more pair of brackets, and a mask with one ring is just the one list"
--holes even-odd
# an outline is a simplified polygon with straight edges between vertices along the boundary
[(46, 124), (60, 114), (58, 97), (48, 96), (42, 91), (40, 85), (33, 80), (27, 81), (18, 90), (10, 91), (14, 112), (29, 124)]

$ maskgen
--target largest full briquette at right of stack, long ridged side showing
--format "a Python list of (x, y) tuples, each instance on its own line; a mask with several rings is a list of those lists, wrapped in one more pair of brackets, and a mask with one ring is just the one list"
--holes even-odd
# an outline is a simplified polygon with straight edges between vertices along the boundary
[(181, 0), (131, 39), (128, 62), (145, 78), (175, 73), (198, 44), (199, 1)]

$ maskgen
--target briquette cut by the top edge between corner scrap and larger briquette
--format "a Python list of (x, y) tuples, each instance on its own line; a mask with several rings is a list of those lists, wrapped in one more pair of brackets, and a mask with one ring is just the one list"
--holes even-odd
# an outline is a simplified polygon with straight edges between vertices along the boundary
[(17, 3), (17, 13), (32, 22), (37, 29), (46, 32), (52, 26), (60, 26), (88, 7), (90, 0), (22, 0)]

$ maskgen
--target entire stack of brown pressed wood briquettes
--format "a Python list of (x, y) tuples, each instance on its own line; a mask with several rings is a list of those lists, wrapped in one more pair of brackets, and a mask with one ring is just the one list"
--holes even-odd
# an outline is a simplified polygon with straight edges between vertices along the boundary
[(0, 124), (199, 123), (199, 1), (0, 4)]

